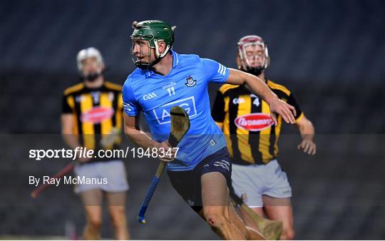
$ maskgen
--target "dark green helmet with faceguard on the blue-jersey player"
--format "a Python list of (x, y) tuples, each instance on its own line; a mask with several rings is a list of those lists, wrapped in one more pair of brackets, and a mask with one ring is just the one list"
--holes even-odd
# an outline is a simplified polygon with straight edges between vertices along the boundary
[[(150, 48), (155, 48), (155, 59), (158, 61), (160, 58), (163, 58), (171, 48), (173, 48), (175, 28), (176, 26), (170, 26), (170, 24), (160, 20), (146, 20), (140, 22), (134, 21), (134, 31), (130, 38), (133, 42), (138, 40), (148, 41), (148, 46)], [(159, 41), (164, 41), (166, 44), (166, 48), (163, 53), (159, 53)], [(143, 64), (143, 61), (140, 61), (137, 56), (134, 56), (133, 47), (134, 44), (132, 44), (131, 47), (131, 54), (133, 55), (135, 65), (140, 68), (150, 66), (150, 63)]]

